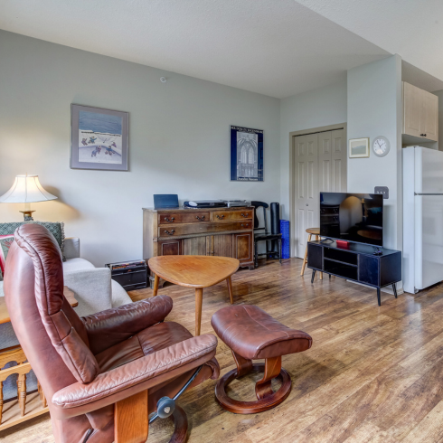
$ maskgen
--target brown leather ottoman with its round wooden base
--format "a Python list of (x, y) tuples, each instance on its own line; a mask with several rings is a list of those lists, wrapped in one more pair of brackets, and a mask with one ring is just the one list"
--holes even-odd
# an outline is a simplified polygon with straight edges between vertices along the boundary
[[(227, 306), (217, 311), (211, 325), (232, 352), (237, 368), (227, 372), (215, 387), (215, 396), (225, 410), (236, 414), (254, 414), (270, 410), (284, 401), (291, 391), (291, 378), (281, 367), (281, 356), (301, 353), (312, 345), (312, 338), (303, 331), (279, 323), (258, 306)], [(265, 359), (265, 363), (252, 360)], [(263, 371), (256, 383), (257, 401), (236, 401), (226, 394), (226, 386), (234, 379), (255, 371)], [(274, 392), (271, 380), (278, 378), (281, 386)]]

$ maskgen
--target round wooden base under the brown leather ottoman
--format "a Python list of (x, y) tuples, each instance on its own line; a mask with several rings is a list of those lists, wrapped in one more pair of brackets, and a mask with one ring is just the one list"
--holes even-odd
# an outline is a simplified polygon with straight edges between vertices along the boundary
[[(291, 377), (286, 370), (281, 368), (281, 356), (269, 358), (265, 363), (254, 363), (232, 352), (237, 368), (227, 372), (215, 387), (215, 397), (225, 410), (234, 414), (255, 414), (275, 408), (289, 395), (292, 387)], [(228, 396), (226, 386), (236, 378), (251, 371), (265, 372), (263, 378), (256, 383), (255, 392), (257, 401), (237, 401)], [(281, 382), (278, 391), (272, 391), (271, 380), (277, 378)]]

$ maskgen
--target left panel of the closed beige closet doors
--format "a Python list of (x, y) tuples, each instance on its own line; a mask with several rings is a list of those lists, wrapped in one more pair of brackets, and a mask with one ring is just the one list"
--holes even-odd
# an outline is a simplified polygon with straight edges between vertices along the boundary
[(316, 228), (320, 220), (320, 194), (318, 190), (318, 135), (295, 137), (297, 224), (296, 256), (305, 255), (307, 228)]

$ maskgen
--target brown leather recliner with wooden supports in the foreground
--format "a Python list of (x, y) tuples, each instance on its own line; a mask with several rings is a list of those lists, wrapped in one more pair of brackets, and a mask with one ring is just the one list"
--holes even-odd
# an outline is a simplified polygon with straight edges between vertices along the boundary
[[(52, 234), (24, 224), (14, 237), (5, 301), (48, 399), (58, 443), (145, 442), (147, 415), (157, 401), (174, 397), (193, 376), (190, 387), (218, 378), (217, 338), (193, 337), (182, 325), (164, 323), (170, 297), (80, 318), (63, 297), (61, 254)], [(174, 410), (174, 403), (165, 404), (163, 416)], [(182, 435), (176, 441), (183, 441), (187, 421), (178, 406), (174, 422), (174, 436)]]

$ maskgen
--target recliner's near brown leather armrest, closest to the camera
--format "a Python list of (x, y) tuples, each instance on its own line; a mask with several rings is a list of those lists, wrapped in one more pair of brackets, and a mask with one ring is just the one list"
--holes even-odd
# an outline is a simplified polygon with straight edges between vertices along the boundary
[(216, 348), (214, 335), (199, 335), (100, 373), (89, 384), (73, 383), (53, 394), (51, 414), (66, 419), (121, 401), (210, 361)]

